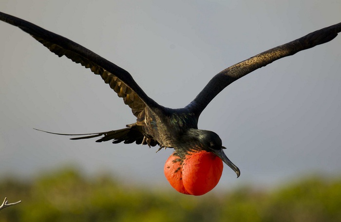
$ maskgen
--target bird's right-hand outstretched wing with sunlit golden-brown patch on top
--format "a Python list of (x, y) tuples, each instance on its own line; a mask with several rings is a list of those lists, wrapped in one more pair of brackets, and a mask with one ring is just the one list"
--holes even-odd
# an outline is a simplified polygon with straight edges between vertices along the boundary
[(277, 59), (292, 56), (302, 50), (326, 43), (335, 38), (339, 32), (341, 32), (341, 23), (315, 31), (230, 66), (216, 74), (187, 108), (199, 118), (208, 103), (232, 82)]

